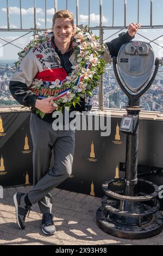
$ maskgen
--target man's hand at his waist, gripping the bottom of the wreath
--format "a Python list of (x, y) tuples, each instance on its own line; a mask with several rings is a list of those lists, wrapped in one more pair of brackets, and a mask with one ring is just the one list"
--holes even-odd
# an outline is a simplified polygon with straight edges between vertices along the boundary
[(40, 109), (43, 113), (52, 113), (57, 109), (57, 104), (53, 101), (54, 97), (47, 97), (43, 100), (36, 100), (35, 108)]

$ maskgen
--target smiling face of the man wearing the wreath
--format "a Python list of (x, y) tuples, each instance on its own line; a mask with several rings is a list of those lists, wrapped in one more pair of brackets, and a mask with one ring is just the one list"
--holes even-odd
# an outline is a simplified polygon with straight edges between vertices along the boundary
[(53, 26), (55, 42), (59, 44), (70, 43), (74, 26), (68, 18), (57, 18)]

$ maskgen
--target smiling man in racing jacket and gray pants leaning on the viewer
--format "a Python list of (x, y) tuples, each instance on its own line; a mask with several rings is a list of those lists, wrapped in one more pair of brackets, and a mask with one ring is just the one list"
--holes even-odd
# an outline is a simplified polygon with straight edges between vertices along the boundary
[[(119, 38), (105, 44), (104, 59), (117, 56), (121, 45), (129, 42), (140, 25), (131, 23), (128, 32), (120, 34)], [(24, 106), (34, 107), (46, 113), (43, 119), (32, 111), (30, 117), (30, 132), (33, 141), (33, 172), (34, 187), (27, 194), (16, 193), (14, 203), (18, 226), (26, 227), (25, 218), (32, 204), (38, 203), (42, 213), (41, 229), (47, 235), (55, 234), (52, 215), (52, 196), (49, 193), (54, 187), (64, 181), (72, 170), (75, 131), (54, 131), (52, 128), (52, 112), (56, 110), (53, 97), (38, 99), (32, 93), (30, 86), (34, 79), (41, 81), (42, 87), (49, 87), (56, 78), (63, 80), (70, 74), (74, 65), (72, 36), (75, 32), (73, 14), (68, 10), (60, 10), (53, 16), (52, 40), (40, 45), (34, 51), (29, 51), (10, 82), (12, 96)], [(72, 110), (85, 111), (85, 101), (81, 99), (80, 106)], [(52, 150), (55, 163), (49, 169)]]

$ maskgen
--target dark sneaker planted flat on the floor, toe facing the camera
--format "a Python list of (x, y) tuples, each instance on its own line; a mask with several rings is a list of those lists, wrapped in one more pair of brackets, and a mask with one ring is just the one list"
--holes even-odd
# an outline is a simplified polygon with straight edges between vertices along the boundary
[(43, 214), (41, 223), (42, 232), (46, 235), (54, 235), (56, 233), (52, 214)]

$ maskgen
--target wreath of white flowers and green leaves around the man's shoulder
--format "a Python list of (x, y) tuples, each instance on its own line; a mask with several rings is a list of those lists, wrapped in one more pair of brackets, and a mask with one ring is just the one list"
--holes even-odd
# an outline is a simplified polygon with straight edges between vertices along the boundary
[[(47, 31), (42, 35), (35, 35), (35, 38), (18, 53), (18, 61), (16, 67), (30, 50), (34, 50), (43, 42), (50, 40), (53, 36), (52, 31)], [(87, 26), (80, 25), (76, 28), (76, 34), (72, 38), (73, 52), (77, 61), (76, 66), (72, 66), (73, 71), (68, 74), (65, 80), (55, 80), (54, 86), (50, 89), (63, 89), (62, 92), (54, 98), (54, 102), (58, 105), (58, 111), (62, 111), (64, 107), (70, 107), (72, 104), (80, 105), (80, 97), (92, 96), (93, 89), (98, 86), (101, 75), (104, 72), (105, 61), (103, 59), (104, 46), (99, 42), (99, 37), (89, 31)], [(35, 79), (32, 88), (39, 89), (41, 81)], [(66, 86), (66, 90), (65, 90)], [(48, 95), (47, 95), (48, 96)], [(35, 109), (36, 114), (40, 114), (41, 118), (45, 113), (39, 109)]]

